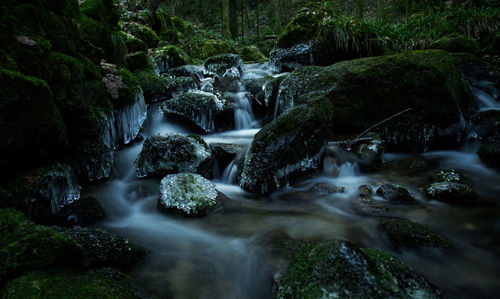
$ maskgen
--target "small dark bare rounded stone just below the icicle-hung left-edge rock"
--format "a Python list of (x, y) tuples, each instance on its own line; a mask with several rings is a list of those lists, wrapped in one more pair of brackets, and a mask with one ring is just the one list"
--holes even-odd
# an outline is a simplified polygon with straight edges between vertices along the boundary
[(102, 220), (105, 213), (97, 199), (85, 197), (63, 207), (59, 215), (62, 218), (62, 225), (89, 226)]

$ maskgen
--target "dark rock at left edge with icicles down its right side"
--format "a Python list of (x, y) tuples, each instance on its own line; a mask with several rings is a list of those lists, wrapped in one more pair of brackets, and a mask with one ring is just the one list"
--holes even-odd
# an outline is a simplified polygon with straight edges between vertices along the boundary
[(51, 222), (61, 209), (80, 198), (73, 169), (53, 164), (30, 171), (0, 188), (0, 206), (15, 207), (29, 219)]

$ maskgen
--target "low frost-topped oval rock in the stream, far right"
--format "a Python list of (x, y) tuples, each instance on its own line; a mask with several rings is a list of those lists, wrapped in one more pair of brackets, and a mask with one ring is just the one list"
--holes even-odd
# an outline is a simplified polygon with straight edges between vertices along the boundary
[(479, 195), (465, 184), (453, 182), (433, 183), (424, 187), (425, 194), (435, 200), (452, 204), (474, 203)]

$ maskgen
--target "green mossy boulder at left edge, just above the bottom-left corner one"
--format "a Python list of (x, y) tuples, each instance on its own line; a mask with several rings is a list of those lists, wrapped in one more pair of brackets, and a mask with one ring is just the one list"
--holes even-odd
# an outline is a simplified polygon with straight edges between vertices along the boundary
[(53, 229), (35, 225), (21, 212), (0, 210), (0, 285), (27, 271), (82, 263), (82, 249)]

